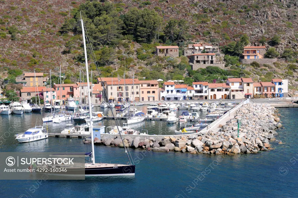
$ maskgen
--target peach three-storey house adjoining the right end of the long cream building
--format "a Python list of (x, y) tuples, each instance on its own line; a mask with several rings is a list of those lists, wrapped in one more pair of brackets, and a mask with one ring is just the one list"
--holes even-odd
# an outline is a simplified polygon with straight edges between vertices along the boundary
[(157, 80), (140, 80), (141, 101), (156, 101), (159, 99), (159, 86)]

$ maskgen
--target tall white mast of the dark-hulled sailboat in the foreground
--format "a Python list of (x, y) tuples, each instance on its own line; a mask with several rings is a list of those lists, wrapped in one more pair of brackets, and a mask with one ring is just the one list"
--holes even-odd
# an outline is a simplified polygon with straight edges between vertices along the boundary
[(95, 164), (94, 157), (94, 142), (93, 142), (93, 123), (92, 123), (92, 107), (91, 107), (91, 98), (90, 98), (90, 87), (89, 87), (89, 72), (88, 72), (88, 60), (87, 60), (87, 51), (86, 51), (86, 40), (85, 40), (85, 31), (84, 24), (81, 15), (81, 24), (82, 24), (82, 33), (83, 33), (83, 43), (84, 43), (84, 52), (85, 52), (85, 65), (86, 65), (86, 74), (87, 74), (87, 90), (88, 90), (88, 101), (89, 101), (89, 115), (90, 115), (90, 131), (91, 131), (91, 145), (92, 145), (92, 164)]

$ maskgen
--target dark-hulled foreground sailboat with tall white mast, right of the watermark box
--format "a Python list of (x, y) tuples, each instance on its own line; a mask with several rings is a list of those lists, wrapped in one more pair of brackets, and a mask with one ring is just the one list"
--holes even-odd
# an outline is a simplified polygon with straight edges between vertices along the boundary
[[(86, 73), (88, 74), (88, 59), (87, 59), (87, 51), (86, 51), (86, 40), (85, 40), (85, 31), (84, 31), (84, 24), (81, 16), (81, 24), (82, 24), (82, 33), (83, 33), (83, 43), (84, 43), (84, 52), (85, 52), (85, 65), (86, 65)], [(92, 52), (91, 52), (92, 53)], [(89, 84), (89, 76), (87, 75), (87, 84)], [(92, 115), (92, 108), (91, 108), (91, 98), (90, 98), (90, 87), (87, 86), (88, 89), (88, 101), (89, 101), (89, 115)], [(114, 117), (114, 113), (112, 111), (112, 115)], [(116, 122), (117, 124), (117, 122)], [(92, 116), (90, 116), (90, 131), (91, 131), (91, 147), (92, 152), (89, 154), (91, 156), (91, 162), (85, 163), (85, 176), (117, 176), (117, 175), (134, 175), (135, 174), (135, 165), (131, 163), (131, 160), (128, 156), (126, 147), (125, 152), (128, 156), (130, 161), (129, 165), (126, 164), (115, 164), (115, 163), (95, 163), (95, 153), (94, 153), (94, 137), (93, 137), (93, 123), (92, 123)], [(117, 127), (119, 127), (117, 125)], [(118, 131), (120, 131), (118, 129)], [(121, 134), (119, 133), (121, 137)], [(121, 137), (122, 139), (122, 137)], [(123, 139), (122, 139), (123, 145)], [(67, 170), (69, 171), (69, 169)]]

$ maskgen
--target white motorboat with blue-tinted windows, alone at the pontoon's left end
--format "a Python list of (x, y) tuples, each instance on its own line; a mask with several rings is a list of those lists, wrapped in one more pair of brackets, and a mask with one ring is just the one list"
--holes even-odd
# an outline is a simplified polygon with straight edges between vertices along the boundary
[(35, 126), (33, 128), (28, 129), (26, 132), (23, 134), (16, 134), (16, 140), (20, 143), (24, 142), (33, 142), (33, 141), (38, 141), (42, 139), (46, 139), (49, 137), (47, 133), (43, 132), (43, 127), (42, 126)]

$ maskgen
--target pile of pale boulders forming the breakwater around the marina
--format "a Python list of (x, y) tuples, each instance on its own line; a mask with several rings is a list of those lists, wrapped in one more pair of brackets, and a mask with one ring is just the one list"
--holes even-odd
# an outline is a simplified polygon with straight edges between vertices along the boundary
[[(238, 120), (241, 121), (238, 137)], [(131, 148), (159, 152), (189, 152), (191, 154), (239, 154), (270, 150), (270, 142), (276, 140), (275, 129), (282, 126), (277, 110), (268, 104), (247, 104), (240, 107), (233, 119), (220, 125), (219, 131), (201, 132), (198, 135), (181, 135), (179, 138), (165, 136), (162, 141), (154, 138), (131, 138), (125, 136), (124, 145)], [(84, 143), (89, 144), (90, 141)], [(94, 144), (124, 147), (120, 137), (94, 139)]]

